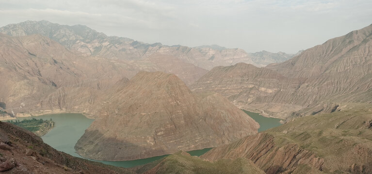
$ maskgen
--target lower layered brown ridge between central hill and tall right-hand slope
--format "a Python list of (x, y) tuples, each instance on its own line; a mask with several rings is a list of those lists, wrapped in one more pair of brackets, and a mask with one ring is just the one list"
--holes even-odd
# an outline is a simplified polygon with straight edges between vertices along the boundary
[(220, 93), (245, 110), (259, 109), (256, 112), (264, 110), (266, 114), (284, 117), (303, 108), (300, 104), (286, 102), (294, 100), (288, 93), (294, 93), (300, 84), (301, 79), (290, 79), (267, 68), (238, 63), (213, 68), (191, 88), (195, 92)]

